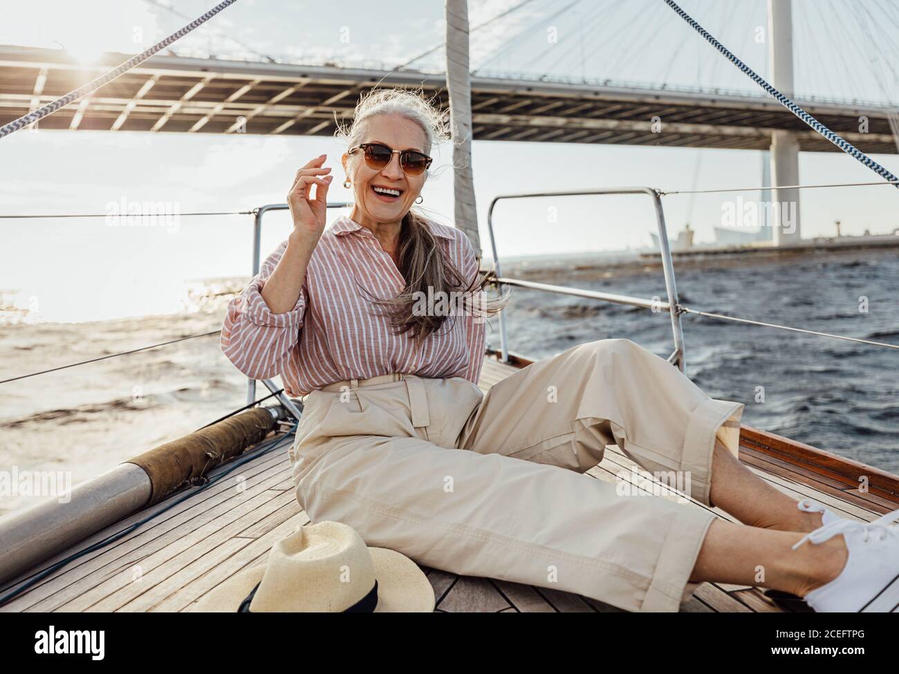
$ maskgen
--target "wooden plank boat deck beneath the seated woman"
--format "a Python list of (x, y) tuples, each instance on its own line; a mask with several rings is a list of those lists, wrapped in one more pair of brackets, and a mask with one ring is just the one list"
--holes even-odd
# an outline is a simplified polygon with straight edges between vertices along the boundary
[[(516, 359), (518, 367), (527, 361)], [(485, 360), (481, 386), (484, 389), (516, 371), (495, 359)], [(840, 457), (805, 448), (778, 436), (744, 429), (741, 459), (752, 471), (783, 492), (799, 499), (821, 501), (850, 518), (870, 520), (894, 510), (899, 502), (897, 479), (873, 471), (869, 492), (859, 492), (852, 474), (864, 474), (868, 466), (852, 464)], [(179, 492), (142, 510), (116, 525), (85, 539), (46, 563), (4, 583), (0, 594), (33, 577), (53, 563), (106, 537), (147, 520), (133, 531), (77, 557), (49, 573), (29, 590), (0, 607), (0, 611), (183, 611), (203, 594), (247, 565), (261, 563), (271, 545), (309, 519), (294, 496), (287, 448), (255, 457), (218, 482), (202, 490)], [(805, 448), (797, 459), (785, 451)], [(810, 453), (809, 453), (810, 452)], [(599, 466), (587, 475), (613, 482), (622, 468), (635, 466), (619, 448), (610, 445)], [(847, 468), (847, 466), (849, 466)], [(860, 467), (859, 467), (860, 466)], [(210, 479), (229, 470), (219, 466)], [(657, 498), (675, 498), (659, 496)], [(722, 510), (708, 509), (693, 501), (684, 507), (712, 510), (718, 517), (735, 521)], [(486, 578), (456, 576), (427, 569), (442, 612), (618, 612), (594, 599), (559, 590), (530, 587)], [(801, 607), (800, 607), (801, 608)], [(688, 612), (762, 612), (780, 608), (761, 590), (704, 583), (681, 606)]]

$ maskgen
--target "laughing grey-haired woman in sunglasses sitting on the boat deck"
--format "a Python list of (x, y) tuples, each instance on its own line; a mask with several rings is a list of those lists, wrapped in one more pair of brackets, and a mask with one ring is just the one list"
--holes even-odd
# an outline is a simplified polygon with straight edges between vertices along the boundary
[[(819, 611), (893, 610), (896, 528), (763, 482), (736, 458), (743, 405), (711, 399), (632, 341), (576, 346), (481, 392), (472, 245), (412, 210), (446, 129), (420, 94), (363, 98), (340, 129), (352, 213), (325, 231), (333, 175), (325, 155), (308, 162), (288, 196), (293, 231), (228, 306), (228, 359), (303, 396), (289, 455), (309, 518), (424, 565), (627, 610), (677, 611), (702, 581), (789, 592)], [(460, 290), (465, 311), (422, 310), (428, 292)], [(612, 443), (743, 524), (584, 477)]]

